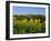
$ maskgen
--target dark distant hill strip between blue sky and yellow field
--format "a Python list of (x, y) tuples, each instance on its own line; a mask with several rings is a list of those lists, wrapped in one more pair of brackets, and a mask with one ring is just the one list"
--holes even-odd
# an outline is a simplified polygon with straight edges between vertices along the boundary
[(13, 16), (16, 18), (32, 18), (32, 19), (45, 19), (45, 16), (41, 16), (41, 14), (26, 14), (26, 16)]

